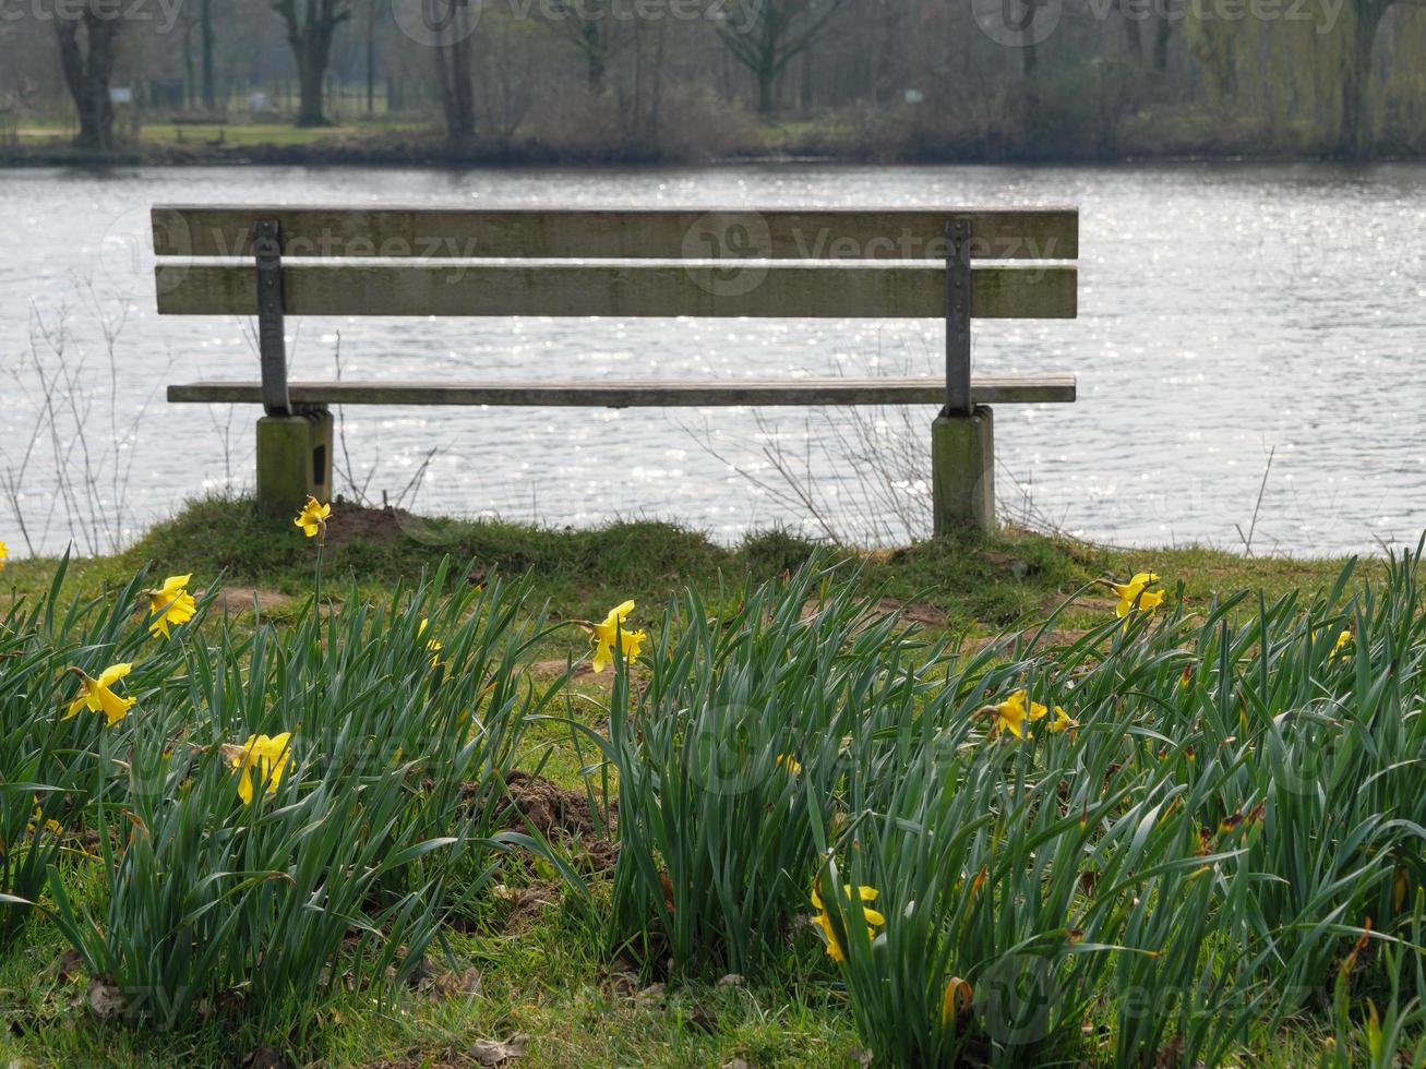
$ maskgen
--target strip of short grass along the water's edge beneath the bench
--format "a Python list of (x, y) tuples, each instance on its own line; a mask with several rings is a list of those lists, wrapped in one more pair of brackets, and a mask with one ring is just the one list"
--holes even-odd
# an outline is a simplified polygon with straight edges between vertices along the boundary
[[(781, 532), (720, 546), (699, 532), (653, 522), (556, 530), (337, 509), (327, 553), (327, 572), (337, 584), (355, 583), (362, 593), (378, 596), (398, 579), (431, 570), (451, 556), (462, 564), (471, 562), (476, 572), (529, 574), (536, 597), (548, 600), (556, 617), (602, 616), (612, 590), (662, 604), (684, 584), (693, 584), (717, 600), (720, 590), (736, 592), (747, 577), (776, 579), (826, 549)], [(76, 590), (96, 592), (127, 579), (143, 564), (161, 574), (193, 572), (195, 582), (221, 573), (230, 606), (241, 610), (251, 601), (250, 593), (258, 593), (264, 607), (281, 616), (295, 611), (312, 577), (312, 549), (291, 533), (289, 523), (260, 519), (245, 500), (197, 502), (123, 554), (74, 562), (70, 583)], [(16, 539), (10, 542), (14, 546)], [(1002, 532), (990, 540), (967, 536), (923, 542), (873, 553), (848, 550), (843, 556), (861, 566), (867, 589), (884, 587), (894, 603), (910, 607), (920, 626), (981, 637), (1022, 617), (1038, 624), (1099, 577), (1159, 572), (1171, 583), (1184, 584), (1188, 603), (1206, 604), (1243, 589), (1261, 589), (1269, 597), (1289, 590), (1315, 593), (1330, 584), (1343, 564), (1252, 559), (1198, 547), (1111, 549), (1030, 532)], [(54, 563), (13, 560), (3, 586), (37, 593), (48, 584)], [(1061, 614), (1061, 626), (1094, 626), (1112, 604), (1108, 592), (1085, 593)]]

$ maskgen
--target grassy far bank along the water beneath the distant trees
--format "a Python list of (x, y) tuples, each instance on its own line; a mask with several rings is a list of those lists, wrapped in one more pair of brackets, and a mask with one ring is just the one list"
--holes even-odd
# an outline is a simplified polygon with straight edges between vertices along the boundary
[[(0, 167), (570, 167), (707, 165), (737, 161), (816, 160), (893, 164), (1095, 164), (1252, 160), (1336, 160), (1320, 138), (1276, 137), (1255, 118), (1224, 123), (1202, 115), (1142, 114), (1114, 137), (1085, 141), (1050, 131), (950, 130), (927, 134), (906, 115), (870, 121), (866, 114), (757, 121), (736, 115), (712, 141), (590, 141), (568, 127), (519, 131), (505, 138), (452, 143), (432, 124), (414, 120), (348, 121), (304, 128), (282, 123), (150, 123), (113, 151), (71, 145), (60, 124), (30, 124), (0, 144)], [(1410, 144), (1383, 143), (1376, 161), (1420, 160)]]

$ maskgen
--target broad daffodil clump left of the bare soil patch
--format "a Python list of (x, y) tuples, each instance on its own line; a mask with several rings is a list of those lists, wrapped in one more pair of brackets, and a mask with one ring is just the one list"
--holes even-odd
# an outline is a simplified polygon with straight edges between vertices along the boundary
[[(546, 626), (518, 619), (525, 587), (442, 597), (445, 573), (391, 606), (351, 596), (188, 646), (96, 807), (101, 915), (50, 869), (56, 924), (111, 1009), (174, 1028), (235, 992), (271, 1021), (344, 985), (388, 989), (526, 842), (498, 814), (558, 694), (523, 678)], [(250, 757), (270, 737), (281, 754)]]

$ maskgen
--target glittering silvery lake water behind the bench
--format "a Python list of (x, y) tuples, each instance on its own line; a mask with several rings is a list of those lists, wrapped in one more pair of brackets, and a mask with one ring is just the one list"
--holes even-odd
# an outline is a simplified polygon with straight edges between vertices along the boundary
[[(257, 378), (252, 325), (155, 315), (148, 207), (274, 201), (1074, 204), (1079, 318), (975, 329), (977, 372), (1079, 378), (1075, 405), (997, 409), (1004, 515), (1131, 546), (1243, 549), (1251, 529), (1253, 552), (1296, 554), (1415, 544), (1426, 526), (1426, 165), (0, 170), (0, 490), (13, 492), (0, 540), (13, 553), (26, 549), (14, 502), (37, 550), (63, 549), (71, 526), (87, 550), (106, 525), (133, 537), (188, 496), (251, 485), (260, 410), (170, 406), (163, 388)], [(288, 332), (294, 378), (331, 376), (338, 349), (344, 378), (391, 379), (904, 375), (943, 361), (934, 321), (309, 318)], [(73, 405), (58, 425), (77, 419), (83, 442), (34, 440), (56, 376), (50, 403)], [(906, 517), (930, 523), (918, 458), (933, 416), (356, 408), (338, 462), (369, 497), (406, 489), (428, 513), (657, 517), (723, 542), (830, 527), (871, 543), (904, 540)]]

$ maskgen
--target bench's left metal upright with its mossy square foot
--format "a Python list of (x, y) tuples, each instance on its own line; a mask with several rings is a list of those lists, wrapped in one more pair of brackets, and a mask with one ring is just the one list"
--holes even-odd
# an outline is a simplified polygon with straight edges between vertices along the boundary
[(311, 497), (332, 496), (332, 416), (324, 408), (294, 410), (287, 392), (282, 231), (275, 220), (252, 227), (258, 284), (258, 355), (262, 410), (258, 420), (257, 499), (268, 516), (289, 516)]

